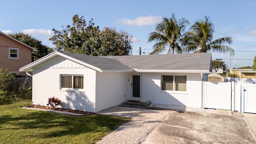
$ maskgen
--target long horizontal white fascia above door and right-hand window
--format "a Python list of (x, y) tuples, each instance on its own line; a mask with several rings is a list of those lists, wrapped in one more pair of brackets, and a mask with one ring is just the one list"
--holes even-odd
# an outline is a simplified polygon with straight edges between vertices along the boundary
[(138, 70), (134, 69), (135, 72), (172, 72), (172, 73), (208, 73), (209, 70)]

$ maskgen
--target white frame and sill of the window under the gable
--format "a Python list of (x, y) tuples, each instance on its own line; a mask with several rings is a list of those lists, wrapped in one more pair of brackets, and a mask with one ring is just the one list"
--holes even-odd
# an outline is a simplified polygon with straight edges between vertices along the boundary
[[(62, 76), (72, 76), (72, 88), (62, 88)], [(83, 77), (83, 88), (74, 88), (74, 76), (82, 76)], [(68, 91), (68, 92), (84, 92), (84, 75), (80, 74), (60, 74), (60, 91)]]

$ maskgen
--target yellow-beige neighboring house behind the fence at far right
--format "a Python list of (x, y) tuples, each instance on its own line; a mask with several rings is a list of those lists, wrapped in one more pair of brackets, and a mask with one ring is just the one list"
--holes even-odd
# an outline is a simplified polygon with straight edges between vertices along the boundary
[(256, 78), (256, 70), (253, 69), (231, 69), (231, 74), (237, 74), (240, 78)]

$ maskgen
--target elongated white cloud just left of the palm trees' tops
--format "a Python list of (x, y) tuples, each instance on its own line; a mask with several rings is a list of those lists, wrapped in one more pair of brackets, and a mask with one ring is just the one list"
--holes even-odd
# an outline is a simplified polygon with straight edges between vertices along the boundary
[(145, 26), (145, 25), (152, 25), (160, 22), (162, 20), (162, 16), (140, 16), (133, 20), (128, 18), (123, 18), (122, 20), (118, 20), (118, 23), (127, 24), (127, 25), (134, 25), (134, 26)]

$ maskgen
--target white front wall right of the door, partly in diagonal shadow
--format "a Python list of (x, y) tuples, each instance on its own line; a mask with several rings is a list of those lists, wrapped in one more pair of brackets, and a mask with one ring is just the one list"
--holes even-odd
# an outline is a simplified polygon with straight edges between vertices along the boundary
[[(186, 92), (167, 93), (161, 90), (161, 76), (187, 76)], [(142, 73), (142, 101), (153, 104), (202, 107), (202, 78), (199, 73)]]

